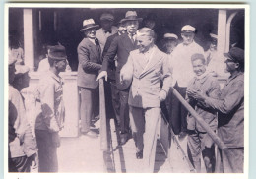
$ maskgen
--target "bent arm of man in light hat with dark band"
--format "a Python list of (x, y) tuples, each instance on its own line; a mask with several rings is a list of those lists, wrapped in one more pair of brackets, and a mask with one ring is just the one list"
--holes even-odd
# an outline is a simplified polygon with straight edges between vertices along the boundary
[(90, 52), (85, 46), (78, 47), (78, 60), (84, 71), (98, 72), (101, 65), (90, 61)]

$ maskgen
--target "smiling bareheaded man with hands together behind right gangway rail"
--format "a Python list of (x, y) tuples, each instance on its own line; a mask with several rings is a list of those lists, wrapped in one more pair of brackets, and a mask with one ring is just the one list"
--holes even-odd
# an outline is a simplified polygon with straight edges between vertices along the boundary
[[(220, 85), (216, 77), (207, 71), (207, 64), (203, 54), (195, 53), (191, 56), (191, 63), (195, 73), (187, 87), (186, 100), (195, 111), (205, 120), (213, 131), (217, 130), (217, 112), (200, 104), (190, 95), (190, 90), (200, 90), (209, 97), (218, 99)], [(201, 154), (208, 173), (215, 171), (215, 144), (204, 128), (191, 115), (187, 116), (188, 156), (198, 173), (201, 172)]]

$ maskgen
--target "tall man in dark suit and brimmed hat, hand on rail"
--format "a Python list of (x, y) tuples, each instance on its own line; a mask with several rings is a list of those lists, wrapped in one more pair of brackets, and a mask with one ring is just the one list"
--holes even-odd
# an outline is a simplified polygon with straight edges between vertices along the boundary
[(135, 11), (127, 11), (125, 18), (122, 20), (127, 33), (117, 36), (113, 39), (107, 53), (103, 58), (103, 64), (100, 74), (97, 79), (105, 78), (107, 81), (107, 68), (109, 62), (117, 55), (117, 66), (115, 72), (116, 88), (119, 90), (120, 95), (120, 131), (121, 142), (123, 145), (128, 140), (129, 133), (129, 107), (128, 107), (128, 95), (130, 83), (120, 83), (120, 71), (124, 64), (127, 62), (130, 51), (138, 48), (135, 42), (135, 33), (139, 27), (139, 21), (141, 18), (137, 17)]

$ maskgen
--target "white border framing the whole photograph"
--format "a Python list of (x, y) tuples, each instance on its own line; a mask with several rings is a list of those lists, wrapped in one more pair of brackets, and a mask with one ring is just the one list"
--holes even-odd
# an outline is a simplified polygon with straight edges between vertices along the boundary
[[(178, 9), (178, 8), (203, 8), (203, 9), (245, 9), (245, 90), (244, 90), (244, 146), (246, 147), (244, 150), (244, 174), (179, 174), (179, 173), (168, 173), (168, 174), (88, 174), (88, 173), (8, 173), (8, 140), (6, 136), (8, 136), (8, 124), (4, 122), (4, 176), (8, 179), (34, 179), (34, 178), (85, 178), (85, 177), (93, 177), (93, 178), (120, 178), (120, 177), (166, 177), (166, 178), (196, 178), (196, 179), (247, 179), (249, 172), (249, 59), (250, 59), (250, 6), (247, 4), (62, 4), (62, 3), (6, 3), (5, 4), (5, 20), (4, 20), (4, 59), (8, 59), (8, 8), (11, 7), (19, 7), (19, 8), (36, 8), (36, 7), (45, 7), (45, 8), (170, 8), (170, 9)], [(132, 2), (135, 3), (135, 2)], [(237, 2), (238, 3), (238, 2)], [(140, 6), (142, 7), (140, 7)], [(4, 62), (4, 119), (8, 119), (8, 63), (7, 60)], [(155, 176), (157, 175), (157, 176)]]

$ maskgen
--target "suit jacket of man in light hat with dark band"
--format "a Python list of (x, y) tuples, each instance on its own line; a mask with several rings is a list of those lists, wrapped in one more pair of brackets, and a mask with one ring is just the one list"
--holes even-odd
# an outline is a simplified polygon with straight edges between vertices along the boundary
[(98, 71), (101, 69), (100, 46), (95, 45), (88, 38), (84, 38), (78, 45), (78, 86), (96, 89)]

